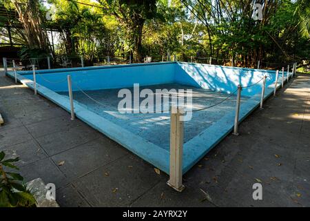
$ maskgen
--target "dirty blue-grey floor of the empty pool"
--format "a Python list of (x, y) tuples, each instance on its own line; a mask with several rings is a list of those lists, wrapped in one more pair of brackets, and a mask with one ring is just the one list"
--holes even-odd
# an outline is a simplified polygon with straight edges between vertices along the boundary
[[(227, 97), (226, 93), (218, 93), (212, 90), (195, 88), (192, 86), (185, 86), (180, 84), (158, 84), (155, 86), (140, 87), (140, 91), (143, 88), (149, 88), (154, 93), (156, 89), (170, 90), (172, 88), (179, 89), (192, 89), (193, 97), (193, 110), (204, 108), (220, 102), (222, 99)], [(133, 88), (128, 88), (132, 91)], [(156, 144), (161, 148), (169, 150), (169, 131), (170, 131), (170, 116), (169, 113), (124, 113), (118, 112), (118, 102), (121, 99), (118, 97), (118, 91), (120, 89), (108, 89), (108, 90), (87, 90), (85, 93), (90, 97), (96, 99), (94, 102), (92, 99), (87, 97), (81, 91), (75, 91), (73, 93), (74, 100), (79, 102), (82, 106), (88, 110), (101, 115), (105, 119), (118, 124), (128, 131), (143, 137), (145, 140)], [(68, 92), (59, 93), (63, 96), (68, 96)], [(144, 98), (140, 99), (140, 102)], [(245, 102), (249, 97), (242, 97), (241, 102)], [(162, 101), (163, 109), (169, 107), (171, 100), (168, 104), (164, 104)], [(185, 99), (186, 104), (186, 99)], [(184, 126), (184, 142), (191, 140), (193, 137), (203, 132), (206, 128), (215, 124), (218, 119), (223, 117), (225, 114), (234, 111), (236, 108), (236, 95), (229, 97), (225, 102), (206, 109), (204, 111), (197, 111), (192, 113), (192, 119), (185, 122)], [(128, 137), (128, 139), (131, 139)]]

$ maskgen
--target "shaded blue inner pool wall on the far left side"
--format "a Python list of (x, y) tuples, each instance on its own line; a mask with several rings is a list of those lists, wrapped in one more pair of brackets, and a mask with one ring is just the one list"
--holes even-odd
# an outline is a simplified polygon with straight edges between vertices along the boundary
[[(67, 69), (65, 72), (56, 70), (38, 70), (36, 79), (41, 84), (55, 92), (67, 91), (67, 76), (72, 76), (72, 90), (100, 90), (110, 88), (130, 88), (134, 84), (141, 86), (174, 83), (175, 63), (154, 65), (123, 65), (93, 68)], [(20, 73), (19, 73), (20, 74)], [(21, 73), (24, 77), (33, 80), (32, 72)]]

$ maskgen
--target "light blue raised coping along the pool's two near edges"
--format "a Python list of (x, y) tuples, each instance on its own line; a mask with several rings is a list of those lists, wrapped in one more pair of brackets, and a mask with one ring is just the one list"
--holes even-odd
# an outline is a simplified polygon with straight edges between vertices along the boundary
[[(125, 66), (125, 65), (123, 65)], [(14, 74), (6, 73), (9, 77), (14, 78)], [(34, 88), (34, 83), (30, 79), (26, 79), (22, 75), (17, 73), (17, 79), (28, 86)], [(280, 81), (281, 78), (279, 78)], [(277, 85), (279, 88), (281, 84)], [(70, 102), (67, 97), (63, 97), (55, 93), (54, 91), (37, 84), (37, 92), (50, 99), (55, 104), (58, 104), (66, 111), (70, 112)], [(265, 90), (264, 99), (267, 99), (273, 93), (273, 86), (269, 86)], [(251, 97), (245, 104), (240, 106), (240, 120), (241, 122), (247, 115), (254, 111), (260, 104), (260, 94)], [(74, 111), (76, 117), (81, 119), (86, 124), (89, 124), (96, 130), (110, 137), (110, 139), (118, 142), (128, 150), (132, 151), (139, 157), (142, 157), (147, 162), (153, 164), (161, 171), (169, 174), (169, 151), (164, 148), (156, 146), (155, 144), (148, 142), (147, 140), (134, 135), (130, 131), (123, 129), (107, 119), (88, 111), (86, 108), (81, 106), (79, 102), (74, 101)], [(218, 142), (223, 140), (231, 131), (234, 126), (234, 111), (224, 115), (220, 118), (216, 124), (209, 126), (202, 133), (196, 135), (191, 140), (184, 144), (183, 148), (183, 173), (186, 173), (198, 160), (200, 160), (208, 151), (211, 150)], [(130, 137), (130, 139), (128, 139)]]

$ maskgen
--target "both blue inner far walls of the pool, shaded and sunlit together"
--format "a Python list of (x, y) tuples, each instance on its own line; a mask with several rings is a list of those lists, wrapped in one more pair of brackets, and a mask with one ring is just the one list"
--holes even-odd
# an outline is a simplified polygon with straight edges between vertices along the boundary
[[(133, 84), (149, 86), (156, 84), (186, 84), (223, 93), (233, 93), (238, 84), (247, 86), (267, 75), (267, 86), (273, 84), (276, 72), (229, 66), (165, 62), (156, 64), (131, 64), (89, 68), (37, 70), (37, 83), (55, 92), (67, 91), (67, 75), (72, 76), (72, 89), (101, 90), (129, 88)], [(33, 79), (32, 71), (19, 72)], [(261, 84), (243, 88), (242, 95), (253, 96), (261, 91)]]

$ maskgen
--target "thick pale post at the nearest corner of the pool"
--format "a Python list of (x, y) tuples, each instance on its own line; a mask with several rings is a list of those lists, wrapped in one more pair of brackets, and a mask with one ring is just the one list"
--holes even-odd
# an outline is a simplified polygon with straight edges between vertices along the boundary
[(182, 184), (182, 157), (184, 125), (180, 120), (184, 114), (183, 108), (172, 106), (170, 118), (170, 166), (167, 184), (176, 191), (183, 191)]

